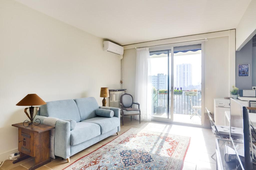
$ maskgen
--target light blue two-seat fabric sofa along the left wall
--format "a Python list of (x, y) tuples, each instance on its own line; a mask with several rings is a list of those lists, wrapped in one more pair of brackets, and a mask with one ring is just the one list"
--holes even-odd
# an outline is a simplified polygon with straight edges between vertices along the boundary
[(51, 157), (60, 156), (69, 162), (70, 156), (120, 131), (120, 109), (107, 108), (114, 112), (113, 117), (97, 116), (95, 111), (100, 107), (94, 97), (46, 103), (35, 119), (55, 124)]

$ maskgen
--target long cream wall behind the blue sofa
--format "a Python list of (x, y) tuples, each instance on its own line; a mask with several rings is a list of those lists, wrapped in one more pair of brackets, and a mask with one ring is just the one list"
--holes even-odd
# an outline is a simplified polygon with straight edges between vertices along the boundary
[(17, 149), (15, 106), (36, 93), (44, 101), (93, 96), (120, 88), (121, 62), (102, 51), (103, 40), (13, 0), (0, 0), (0, 161)]

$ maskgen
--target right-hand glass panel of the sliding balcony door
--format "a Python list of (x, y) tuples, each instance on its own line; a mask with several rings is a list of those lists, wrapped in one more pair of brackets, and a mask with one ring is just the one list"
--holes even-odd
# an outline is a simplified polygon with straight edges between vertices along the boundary
[(174, 47), (173, 121), (201, 124), (201, 44)]

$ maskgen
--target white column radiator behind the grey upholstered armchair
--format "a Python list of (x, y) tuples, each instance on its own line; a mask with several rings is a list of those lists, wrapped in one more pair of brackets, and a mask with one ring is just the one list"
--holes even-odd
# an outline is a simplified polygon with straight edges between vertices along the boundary
[(120, 97), (125, 93), (126, 89), (109, 90), (109, 106), (114, 108), (120, 108)]

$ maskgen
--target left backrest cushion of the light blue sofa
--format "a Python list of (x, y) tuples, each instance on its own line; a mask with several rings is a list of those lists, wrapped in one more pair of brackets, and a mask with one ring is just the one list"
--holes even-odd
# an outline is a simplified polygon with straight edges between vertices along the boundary
[(40, 106), (41, 116), (71, 119), (76, 122), (81, 121), (77, 104), (73, 99), (49, 101), (46, 103)]

